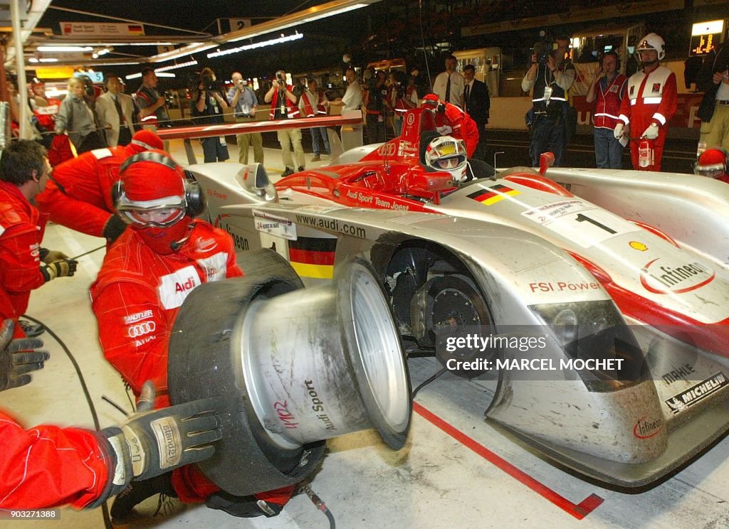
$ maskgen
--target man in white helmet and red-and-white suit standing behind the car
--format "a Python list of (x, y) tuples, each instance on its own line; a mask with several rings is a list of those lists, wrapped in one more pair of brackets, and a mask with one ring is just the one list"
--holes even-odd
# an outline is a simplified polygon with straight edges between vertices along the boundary
[[(666, 56), (666, 43), (660, 36), (648, 33), (640, 41), (636, 52), (643, 69), (628, 79), (628, 97), (620, 105), (622, 123), (615, 127), (615, 138), (633, 136), (631, 156), (635, 170), (660, 171), (668, 121), (676, 112), (678, 101), (676, 76), (671, 70), (658, 64)], [(644, 143), (642, 159), (639, 152), (641, 143)]]

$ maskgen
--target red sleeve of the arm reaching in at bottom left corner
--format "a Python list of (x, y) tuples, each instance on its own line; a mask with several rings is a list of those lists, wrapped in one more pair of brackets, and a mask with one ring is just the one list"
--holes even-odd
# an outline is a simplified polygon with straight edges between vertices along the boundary
[(0, 509), (41, 509), (99, 498), (114, 468), (93, 431), (58, 426), (24, 430), (0, 412)]

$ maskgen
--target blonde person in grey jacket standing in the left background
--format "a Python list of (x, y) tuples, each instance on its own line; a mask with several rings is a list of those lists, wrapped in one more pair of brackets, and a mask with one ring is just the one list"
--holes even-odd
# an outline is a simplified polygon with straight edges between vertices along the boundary
[(71, 143), (79, 154), (106, 147), (104, 131), (97, 128), (98, 118), (95, 111), (84, 98), (84, 82), (78, 77), (71, 77), (68, 89), (69, 94), (58, 111), (55, 132), (68, 132)]

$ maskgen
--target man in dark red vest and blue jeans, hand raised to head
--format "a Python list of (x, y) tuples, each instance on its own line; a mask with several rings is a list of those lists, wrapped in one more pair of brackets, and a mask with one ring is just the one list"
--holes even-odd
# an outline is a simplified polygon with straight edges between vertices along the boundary
[(603, 55), (585, 99), (588, 103), (597, 101), (593, 114), (595, 125), (593, 135), (595, 137), (595, 162), (598, 169), (623, 167), (625, 144), (615, 138), (615, 126), (620, 123), (618, 117), (620, 103), (625, 98), (628, 78), (622, 73), (617, 73), (618, 62), (615, 52), (610, 51)]

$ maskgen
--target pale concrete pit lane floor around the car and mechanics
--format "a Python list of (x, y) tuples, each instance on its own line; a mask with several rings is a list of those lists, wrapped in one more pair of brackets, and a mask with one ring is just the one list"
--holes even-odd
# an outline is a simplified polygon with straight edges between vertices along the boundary
[[(184, 161), (182, 142), (171, 151)], [(231, 155), (237, 159), (235, 146)], [(266, 167), (282, 170), (280, 154), (266, 149)], [(307, 155), (307, 160), (310, 158)], [(201, 159), (201, 156), (200, 156)], [(311, 164), (316, 167), (327, 162)], [(48, 226), (44, 247), (79, 255), (103, 244), (63, 226)], [(101, 426), (122, 414), (101, 399), (130, 409), (119, 375), (104, 360), (87, 289), (101, 266), (104, 250), (79, 259), (77, 274), (60, 278), (31, 295), (28, 314), (41, 319), (79, 362)], [(90, 427), (92, 420), (71, 362), (47, 334), (51, 359), (29, 386), (0, 394), (0, 406), (26, 426), (58, 423)], [(440, 366), (432, 359), (410, 359), (413, 387)], [(311, 482), (338, 528), (706, 528), (729, 526), (729, 439), (662, 484), (639, 494), (607, 490), (564, 472), (531, 450), (504, 437), (483, 421), (488, 401), (477, 383), (445, 375), (420, 391), (405, 448), (384, 448), (370, 432), (329, 442), (329, 453)], [(244, 476), (241, 479), (245, 479)], [(157, 498), (139, 508), (143, 516), (126, 527), (324, 529), (327, 519), (301, 494), (278, 517), (241, 519), (205, 506), (171, 504), (152, 517)], [(0, 528), (14, 528), (2, 521)], [(33, 527), (103, 527), (101, 509), (62, 509), (60, 520)]]

